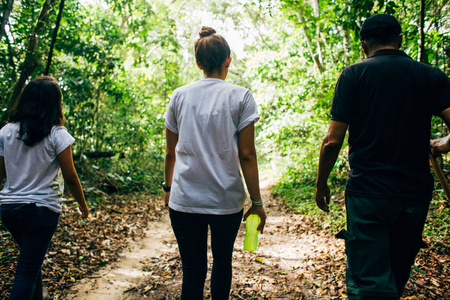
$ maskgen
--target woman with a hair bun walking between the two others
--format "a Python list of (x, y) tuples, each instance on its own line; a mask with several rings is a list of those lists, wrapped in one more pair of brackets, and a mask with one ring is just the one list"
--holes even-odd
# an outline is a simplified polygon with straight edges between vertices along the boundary
[(259, 189), (254, 123), (259, 120), (251, 92), (225, 81), (231, 63), (227, 41), (203, 27), (195, 59), (205, 78), (173, 92), (167, 112), (165, 202), (183, 265), (181, 299), (203, 299), (207, 273), (208, 227), (213, 266), (211, 298), (228, 299), (232, 254), (246, 193), (252, 206), (244, 215), (266, 213)]

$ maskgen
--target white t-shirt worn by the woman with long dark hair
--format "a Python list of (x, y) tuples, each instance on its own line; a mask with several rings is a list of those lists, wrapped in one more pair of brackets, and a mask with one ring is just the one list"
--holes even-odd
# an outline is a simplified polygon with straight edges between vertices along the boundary
[(19, 128), (20, 123), (9, 123), (0, 130), (0, 156), (6, 168), (0, 204), (36, 203), (60, 213), (64, 180), (57, 156), (75, 139), (65, 127), (54, 126), (47, 137), (28, 147), (17, 139)]

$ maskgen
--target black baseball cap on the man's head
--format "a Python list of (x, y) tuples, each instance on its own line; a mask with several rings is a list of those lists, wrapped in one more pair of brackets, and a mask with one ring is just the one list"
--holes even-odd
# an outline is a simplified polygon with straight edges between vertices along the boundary
[(397, 19), (391, 15), (378, 14), (367, 18), (359, 32), (359, 39), (365, 40), (372, 37), (383, 37), (392, 34), (400, 34), (402, 27)]

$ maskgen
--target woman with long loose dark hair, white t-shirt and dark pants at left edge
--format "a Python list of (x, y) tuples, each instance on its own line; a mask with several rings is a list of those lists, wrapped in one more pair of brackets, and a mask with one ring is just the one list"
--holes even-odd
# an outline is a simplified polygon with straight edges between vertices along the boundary
[[(8, 299), (43, 299), (41, 267), (61, 213), (64, 182), (89, 215), (72, 160), (75, 139), (63, 127), (62, 94), (49, 76), (37, 77), (0, 130), (0, 213), (20, 248)], [(61, 176), (62, 175), (62, 176)]]

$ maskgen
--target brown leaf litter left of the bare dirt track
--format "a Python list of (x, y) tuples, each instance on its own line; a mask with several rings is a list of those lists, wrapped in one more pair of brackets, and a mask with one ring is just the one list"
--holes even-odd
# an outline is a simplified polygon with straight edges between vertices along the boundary
[[(52, 299), (78, 279), (116, 261), (133, 240), (145, 236), (148, 222), (158, 219), (161, 206), (153, 196), (117, 195), (92, 206), (89, 221), (79, 219), (74, 203), (63, 206), (60, 223), (43, 264), (44, 286)], [(14, 279), (18, 248), (10, 235), (0, 240), (0, 299), (6, 299)]]

